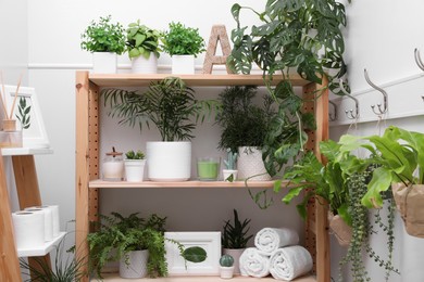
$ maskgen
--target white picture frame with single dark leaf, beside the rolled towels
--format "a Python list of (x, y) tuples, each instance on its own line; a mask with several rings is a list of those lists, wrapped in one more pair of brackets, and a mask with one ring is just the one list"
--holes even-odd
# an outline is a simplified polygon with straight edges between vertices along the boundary
[(185, 261), (179, 254), (178, 246), (166, 240), (166, 262), (170, 275), (220, 274), (221, 232), (165, 232), (165, 238), (179, 242), (185, 248), (199, 246), (207, 251), (204, 261)]

